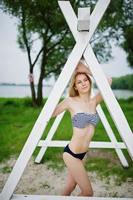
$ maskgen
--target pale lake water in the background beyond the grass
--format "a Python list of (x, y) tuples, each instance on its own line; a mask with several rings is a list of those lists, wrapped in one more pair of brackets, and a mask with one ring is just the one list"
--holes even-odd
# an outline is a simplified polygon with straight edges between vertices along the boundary
[[(43, 86), (43, 97), (48, 97), (52, 90), (52, 86)], [(97, 91), (95, 89), (95, 91)], [(133, 91), (131, 90), (113, 90), (115, 96), (120, 99), (127, 99), (133, 97)], [(0, 85), (0, 97), (30, 97), (31, 91), (29, 86), (18, 85)]]

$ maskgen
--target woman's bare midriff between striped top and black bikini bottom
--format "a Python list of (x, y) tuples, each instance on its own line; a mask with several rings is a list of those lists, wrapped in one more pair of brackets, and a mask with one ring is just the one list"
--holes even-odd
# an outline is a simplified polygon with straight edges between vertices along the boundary
[(73, 136), (69, 143), (69, 148), (73, 153), (83, 153), (88, 151), (90, 141), (94, 135), (95, 127), (89, 125), (86, 128), (73, 128)]

